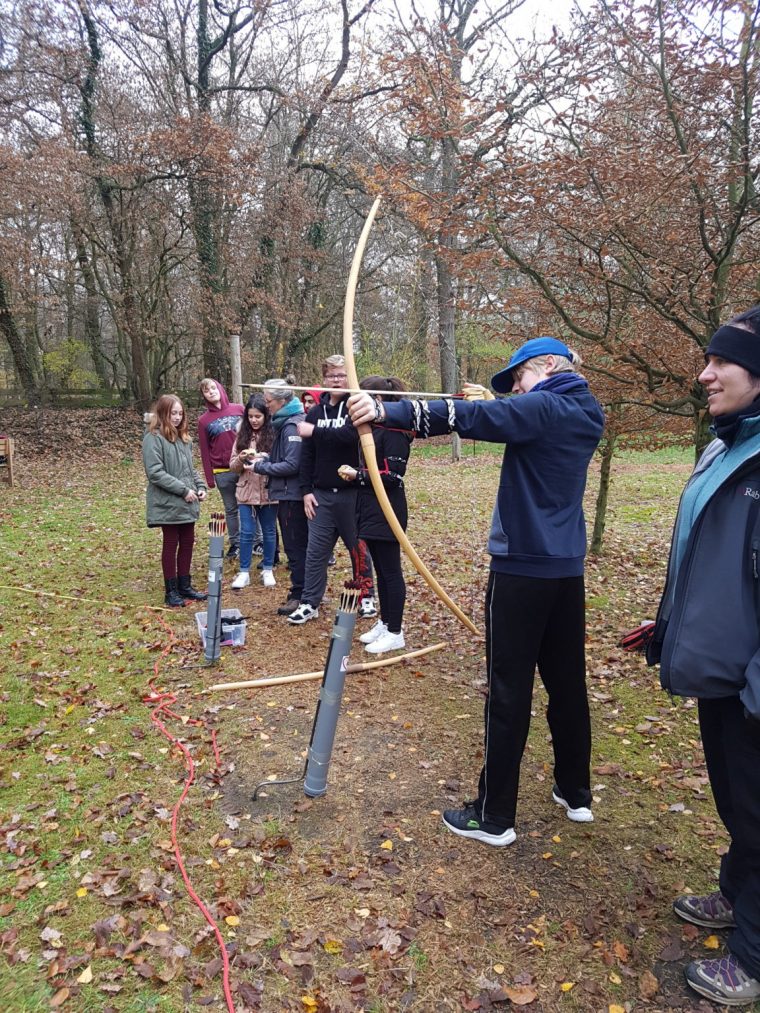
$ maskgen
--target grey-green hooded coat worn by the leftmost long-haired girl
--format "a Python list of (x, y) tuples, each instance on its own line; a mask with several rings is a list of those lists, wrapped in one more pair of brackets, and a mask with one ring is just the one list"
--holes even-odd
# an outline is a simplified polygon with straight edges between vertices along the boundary
[(148, 527), (195, 524), (201, 514), (201, 504), (198, 501), (188, 503), (184, 496), (191, 489), (205, 492), (206, 485), (193, 466), (193, 444), (181, 440), (169, 443), (160, 433), (146, 433), (143, 464), (148, 476)]

